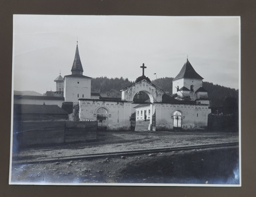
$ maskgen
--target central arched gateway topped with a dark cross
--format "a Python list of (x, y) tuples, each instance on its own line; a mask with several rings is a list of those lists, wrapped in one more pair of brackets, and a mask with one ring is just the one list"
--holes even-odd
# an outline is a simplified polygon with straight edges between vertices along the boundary
[[(154, 103), (162, 101), (162, 96), (164, 95), (164, 91), (158, 88), (153, 83), (151, 83), (151, 80), (144, 75), (144, 69), (147, 68), (146, 66), (144, 66), (144, 63), (141, 66), (141, 68), (142, 68), (142, 76), (138, 77), (135, 80), (134, 84), (121, 90), (122, 100), (133, 102), (133, 98), (136, 96), (137, 93), (144, 92), (149, 96), (149, 99), (150, 99), (150, 103), (148, 103), (150, 104), (150, 111), (155, 112)], [(134, 103), (134, 104), (138, 104), (138, 103)], [(133, 110), (131, 114), (131, 125), (135, 125), (134, 121), (136, 121), (134, 120), (134, 117), (136, 117), (134, 114), (134, 111), (135, 110)], [(148, 130), (155, 130), (155, 125), (153, 125), (154, 121), (152, 121), (153, 115), (154, 113), (150, 113), (150, 117), (148, 117), (148, 119), (150, 120)]]

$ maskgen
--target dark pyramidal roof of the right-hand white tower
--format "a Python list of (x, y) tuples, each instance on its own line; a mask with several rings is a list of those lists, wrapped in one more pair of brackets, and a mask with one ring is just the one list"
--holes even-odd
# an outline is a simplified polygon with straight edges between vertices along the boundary
[(185, 62), (184, 66), (182, 67), (180, 73), (173, 79), (173, 81), (181, 78), (203, 79), (203, 77), (201, 77), (197, 74), (197, 72), (195, 72), (194, 68), (192, 67), (188, 59)]

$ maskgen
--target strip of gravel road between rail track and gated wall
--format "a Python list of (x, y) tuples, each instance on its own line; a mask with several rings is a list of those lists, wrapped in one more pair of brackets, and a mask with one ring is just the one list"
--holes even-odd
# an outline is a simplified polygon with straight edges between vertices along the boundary
[(61, 146), (22, 148), (13, 153), (14, 161), (30, 159), (144, 150), (165, 147), (238, 142), (238, 133), (209, 132), (132, 132), (98, 131), (97, 141), (72, 143)]

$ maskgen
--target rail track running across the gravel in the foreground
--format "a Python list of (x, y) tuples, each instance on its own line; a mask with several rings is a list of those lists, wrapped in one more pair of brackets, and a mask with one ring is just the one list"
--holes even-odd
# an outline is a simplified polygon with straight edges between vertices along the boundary
[(179, 152), (186, 150), (198, 150), (207, 148), (220, 148), (220, 147), (238, 147), (239, 142), (232, 143), (218, 143), (218, 144), (207, 144), (207, 145), (195, 145), (195, 146), (180, 146), (180, 147), (167, 147), (167, 148), (157, 148), (157, 149), (147, 149), (147, 150), (135, 150), (135, 151), (122, 151), (122, 152), (108, 152), (108, 153), (97, 153), (97, 154), (86, 154), (86, 155), (75, 155), (75, 156), (63, 156), (63, 157), (51, 157), (51, 158), (36, 158), (32, 160), (18, 160), (12, 161), (12, 164), (21, 163), (36, 163), (36, 162), (57, 162), (66, 160), (76, 160), (76, 159), (93, 159), (100, 157), (115, 157), (115, 156), (129, 156), (129, 155), (139, 155), (139, 154), (152, 154), (152, 153), (162, 153), (162, 152)]

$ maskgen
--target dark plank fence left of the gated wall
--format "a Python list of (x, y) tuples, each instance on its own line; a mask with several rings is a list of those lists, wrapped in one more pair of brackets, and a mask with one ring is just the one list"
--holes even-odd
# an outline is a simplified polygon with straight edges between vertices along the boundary
[(14, 146), (96, 140), (97, 122), (16, 121), (14, 122), (13, 139)]

